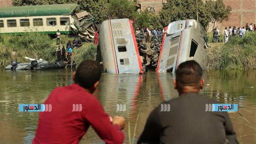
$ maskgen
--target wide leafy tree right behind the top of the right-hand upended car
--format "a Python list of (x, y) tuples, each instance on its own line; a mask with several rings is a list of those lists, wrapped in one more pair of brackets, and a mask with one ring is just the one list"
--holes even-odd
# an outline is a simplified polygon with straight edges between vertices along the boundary
[[(163, 26), (177, 20), (196, 19), (196, 0), (167, 0), (159, 12)], [(198, 0), (198, 21), (206, 28), (211, 20), (211, 14), (204, 3)]]

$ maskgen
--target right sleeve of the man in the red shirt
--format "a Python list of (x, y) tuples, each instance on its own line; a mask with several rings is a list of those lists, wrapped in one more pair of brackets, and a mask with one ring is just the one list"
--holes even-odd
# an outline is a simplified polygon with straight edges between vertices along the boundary
[(125, 136), (120, 126), (111, 124), (108, 114), (96, 98), (92, 98), (88, 102), (85, 118), (107, 144), (123, 143)]

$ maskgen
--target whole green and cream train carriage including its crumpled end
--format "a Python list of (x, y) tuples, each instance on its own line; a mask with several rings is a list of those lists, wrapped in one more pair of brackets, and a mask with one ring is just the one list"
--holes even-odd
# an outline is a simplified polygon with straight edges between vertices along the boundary
[(21, 35), (40, 32), (55, 35), (78, 34), (92, 41), (98, 22), (77, 4), (14, 6), (0, 8), (0, 33)]

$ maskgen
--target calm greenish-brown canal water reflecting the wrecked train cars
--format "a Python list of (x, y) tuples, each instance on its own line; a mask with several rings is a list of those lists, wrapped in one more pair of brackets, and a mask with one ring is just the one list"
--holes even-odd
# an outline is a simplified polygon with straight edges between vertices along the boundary
[[(72, 84), (72, 69), (44, 71), (0, 70), (0, 143), (29, 144), (35, 135), (38, 112), (19, 112), (18, 104), (41, 104), (56, 86)], [(256, 71), (204, 72), (206, 84), (201, 93), (222, 103), (239, 104), (239, 112), (230, 113), (233, 127), (241, 144), (256, 144)], [(126, 119), (125, 141), (129, 144), (137, 121), (135, 140), (142, 132), (146, 119), (161, 101), (178, 96), (173, 87), (173, 75), (149, 72), (146, 75), (102, 74), (95, 95), (109, 115)], [(126, 104), (125, 112), (117, 112), (116, 104)], [(129, 118), (129, 119), (128, 119)], [(102, 140), (90, 128), (81, 144), (99, 144)]]

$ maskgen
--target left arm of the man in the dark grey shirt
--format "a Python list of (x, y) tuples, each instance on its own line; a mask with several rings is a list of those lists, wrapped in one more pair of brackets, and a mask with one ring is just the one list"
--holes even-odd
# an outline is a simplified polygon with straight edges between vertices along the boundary
[(160, 106), (156, 107), (148, 116), (148, 120), (137, 144), (159, 144), (162, 125), (160, 122)]

